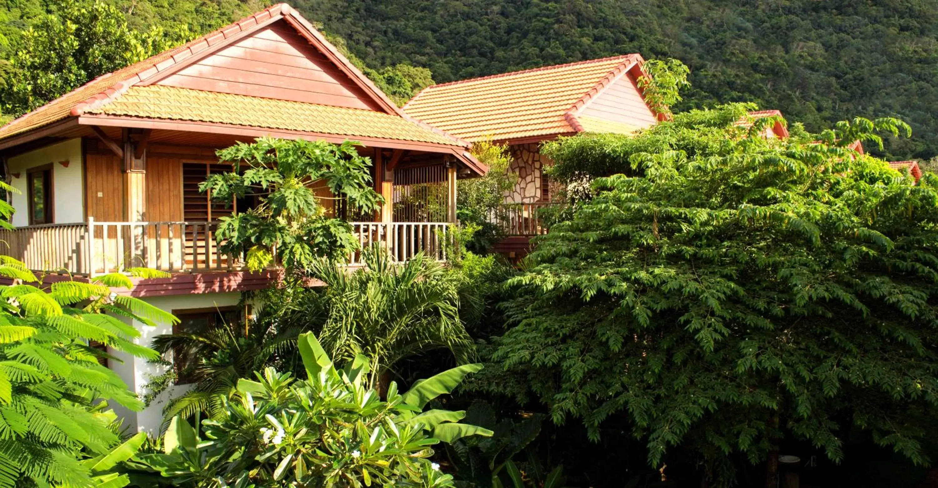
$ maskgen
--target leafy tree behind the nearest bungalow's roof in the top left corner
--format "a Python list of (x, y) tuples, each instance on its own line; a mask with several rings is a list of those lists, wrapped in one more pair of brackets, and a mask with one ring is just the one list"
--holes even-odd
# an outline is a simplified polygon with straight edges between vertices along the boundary
[(128, 27), (117, 7), (101, 1), (64, 3), (23, 31), (9, 58), (4, 110), (31, 111), (85, 82), (188, 40), (184, 28)]

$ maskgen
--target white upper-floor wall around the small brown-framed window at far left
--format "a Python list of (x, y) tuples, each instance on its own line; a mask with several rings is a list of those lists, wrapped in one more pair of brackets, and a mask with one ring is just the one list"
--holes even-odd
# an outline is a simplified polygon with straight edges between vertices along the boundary
[[(68, 161), (68, 168), (59, 164)], [(84, 184), (82, 140), (70, 139), (36, 151), (15, 155), (7, 161), (10, 184), (20, 190), (13, 193), (13, 225), (29, 225), (29, 203), (26, 200), (26, 170), (52, 163), (53, 165), (53, 223), (70, 224), (84, 221)]]

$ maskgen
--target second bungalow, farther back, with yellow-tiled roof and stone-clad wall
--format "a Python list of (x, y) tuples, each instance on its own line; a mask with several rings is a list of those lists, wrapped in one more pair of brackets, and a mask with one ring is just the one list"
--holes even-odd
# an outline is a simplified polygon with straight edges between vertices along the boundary
[(658, 116), (638, 80), (643, 58), (626, 54), (428, 86), (404, 105), (423, 122), (470, 142), (510, 147), (519, 183), (508, 202), (550, 201), (540, 144), (582, 132), (629, 134)]

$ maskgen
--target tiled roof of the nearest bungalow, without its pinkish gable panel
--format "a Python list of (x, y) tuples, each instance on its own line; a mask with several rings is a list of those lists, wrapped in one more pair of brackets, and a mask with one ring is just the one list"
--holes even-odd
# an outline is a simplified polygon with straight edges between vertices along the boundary
[[(365, 92), (371, 94), (377, 103), (385, 106), (387, 110), (359, 111), (200, 90), (155, 85), (136, 86), (150, 77), (173, 69), (191, 56), (214, 49), (228, 39), (257, 30), (264, 22), (280, 19), (288, 23), (293, 22), (297, 31), (308, 37), (310, 43), (318, 46), (327, 55), (333, 54), (337, 65), (340, 68), (346, 67), (353, 81), (360, 81)], [(407, 117), (371, 81), (336, 52), (308, 21), (286, 4), (267, 7), (183, 46), (88, 81), (68, 94), (0, 127), (0, 140), (49, 126), (69, 116), (94, 113), (280, 128), (361, 138), (412, 140), (445, 144), (455, 148), (468, 146), (465, 140), (459, 140)], [(474, 160), (469, 161), (471, 156), (462, 153), (457, 153), (457, 157), (467, 161), (467, 164), (477, 163)]]

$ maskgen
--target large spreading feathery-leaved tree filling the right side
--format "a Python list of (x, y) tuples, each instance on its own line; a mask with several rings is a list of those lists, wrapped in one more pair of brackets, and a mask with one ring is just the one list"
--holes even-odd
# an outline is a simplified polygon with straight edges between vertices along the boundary
[(852, 431), (928, 463), (938, 180), (848, 149), (907, 131), (894, 119), (776, 140), (760, 135), (770, 121), (735, 125), (740, 110), (620, 142), (623, 170), (642, 176), (599, 178), (539, 240), (476, 386), (536, 399), (594, 439), (626, 422), (649, 464), (680, 446), (720, 485), (742, 459), (773, 485), (795, 441), (840, 462)]

